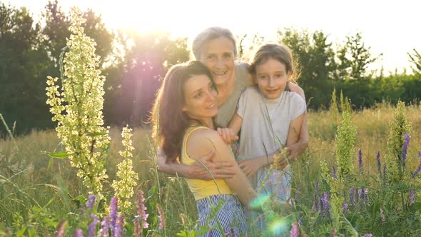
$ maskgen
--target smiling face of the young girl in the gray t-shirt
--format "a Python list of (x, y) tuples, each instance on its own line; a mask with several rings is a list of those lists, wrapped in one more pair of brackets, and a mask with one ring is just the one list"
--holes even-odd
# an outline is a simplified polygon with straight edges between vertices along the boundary
[(277, 99), (285, 90), (291, 72), (286, 71), (285, 64), (269, 58), (255, 67), (255, 83), (267, 99)]

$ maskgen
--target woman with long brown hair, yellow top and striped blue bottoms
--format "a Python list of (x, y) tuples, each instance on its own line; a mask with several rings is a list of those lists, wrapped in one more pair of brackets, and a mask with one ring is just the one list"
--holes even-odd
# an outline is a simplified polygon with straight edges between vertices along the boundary
[[(153, 134), (158, 136), (168, 160), (179, 157), (181, 163), (190, 165), (215, 150), (215, 161), (235, 163), (230, 148), (214, 130), (216, 95), (212, 74), (200, 62), (173, 66), (168, 71), (152, 116)], [(205, 236), (223, 236), (223, 231), (243, 236), (248, 230), (243, 206), (248, 207), (256, 194), (240, 167), (235, 163), (233, 168), (233, 178), (186, 178), (198, 208), (198, 230), (201, 226), (208, 228)], [(221, 201), (223, 205), (213, 215), (213, 208)]]

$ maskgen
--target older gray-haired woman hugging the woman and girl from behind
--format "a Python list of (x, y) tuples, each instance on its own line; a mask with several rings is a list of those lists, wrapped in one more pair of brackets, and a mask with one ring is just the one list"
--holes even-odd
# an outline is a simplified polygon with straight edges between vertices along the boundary
[[(235, 114), (240, 94), (248, 86), (253, 85), (252, 76), (248, 73), (248, 64), (236, 61), (237, 47), (233, 34), (220, 27), (211, 27), (202, 31), (193, 40), (193, 55), (210, 70), (215, 82), (217, 95), (218, 114), (215, 124), (225, 128)], [(300, 86), (288, 83), (288, 89), (305, 98)], [(230, 138), (228, 138), (230, 139)], [(300, 139), (297, 143), (287, 146), (288, 158), (295, 159), (300, 156), (308, 146), (307, 119), (303, 119)], [(158, 151), (158, 168), (164, 173), (178, 174), (185, 178), (210, 180), (212, 178), (230, 178), (235, 175), (233, 163), (212, 162), (214, 152), (198, 158), (199, 161), (186, 166), (178, 161), (168, 162), (163, 152)], [(270, 160), (270, 162), (272, 162)], [(248, 169), (252, 163), (244, 161), (243, 169)], [(203, 166), (206, 166), (203, 167)], [(210, 172), (209, 172), (210, 171)]]

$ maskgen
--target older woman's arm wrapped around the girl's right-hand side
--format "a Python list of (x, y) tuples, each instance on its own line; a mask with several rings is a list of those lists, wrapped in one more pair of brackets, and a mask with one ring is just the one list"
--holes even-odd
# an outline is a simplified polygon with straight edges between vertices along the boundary
[[(288, 82), (288, 88), (290, 91), (293, 91), (300, 95), (305, 101), (304, 90), (293, 82)], [(287, 146), (288, 158), (295, 159), (300, 156), (305, 149), (308, 147), (308, 124), (307, 124), (307, 114), (303, 116), (303, 123), (301, 124), (300, 138), (296, 143), (290, 143)]]

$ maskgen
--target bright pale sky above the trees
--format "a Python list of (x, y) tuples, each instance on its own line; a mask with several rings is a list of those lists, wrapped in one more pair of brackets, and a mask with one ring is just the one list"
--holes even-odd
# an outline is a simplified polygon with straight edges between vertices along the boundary
[[(26, 6), (37, 19), (47, 0), (3, 1)], [(285, 27), (323, 31), (328, 41), (344, 44), (346, 36), (362, 34), (362, 41), (373, 56), (382, 54), (370, 69), (410, 73), (408, 52), (421, 51), (419, 0), (61, 0), (64, 11), (78, 6), (101, 14), (111, 29), (148, 32), (166, 31), (187, 36), (189, 42), (209, 26), (222, 26), (233, 34), (255, 34), (271, 39)]]

